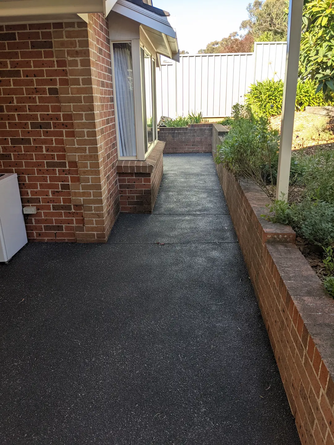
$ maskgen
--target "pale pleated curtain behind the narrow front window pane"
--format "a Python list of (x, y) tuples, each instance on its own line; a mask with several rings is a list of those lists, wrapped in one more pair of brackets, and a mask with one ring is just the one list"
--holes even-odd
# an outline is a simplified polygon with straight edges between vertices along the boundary
[(115, 92), (118, 117), (119, 154), (136, 156), (134, 91), (130, 43), (114, 43)]

